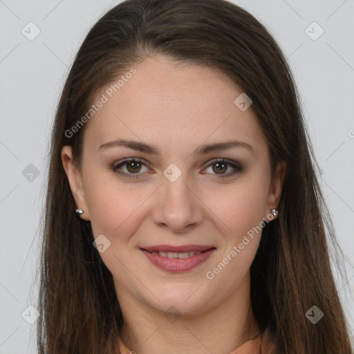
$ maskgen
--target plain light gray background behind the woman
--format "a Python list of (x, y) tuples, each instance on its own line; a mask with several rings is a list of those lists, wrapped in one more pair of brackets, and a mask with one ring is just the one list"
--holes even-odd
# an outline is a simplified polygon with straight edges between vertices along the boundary
[[(347, 278), (337, 285), (353, 326), (354, 1), (234, 2), (268, 27), (295, 73), (324, 194), (348, 257)], [(37, 299), (38, 225), (55, 106), (84, 36), (116, 3), (0, 0), (0, 353), (37, 353), (35, 324), (24, 318), (35, 319), (28, 306)], [(41, 31), (32, 41), (21, 32), (29, 32), (30, 21)], [(324, 29), (315, 41), (306, 34), (313, 21)], [(319, 30), (307, 32), (314, 37)], [(30, 164), (39, 176), (30, 175)]]

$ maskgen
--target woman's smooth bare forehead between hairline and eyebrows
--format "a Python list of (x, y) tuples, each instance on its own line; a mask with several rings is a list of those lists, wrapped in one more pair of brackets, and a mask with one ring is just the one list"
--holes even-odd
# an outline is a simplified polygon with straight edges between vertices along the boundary
[(86, 127), (84, 143), (93, 149), (117, 138), (165, 151), (232, 139), (252, 142), (255, 149), (266, 145), (252, 110), (234, 103), (241, 88), (222, 73), (159, 56), (133, 68), (133, 75), (123, 73), (96, 95), (106, 102)]

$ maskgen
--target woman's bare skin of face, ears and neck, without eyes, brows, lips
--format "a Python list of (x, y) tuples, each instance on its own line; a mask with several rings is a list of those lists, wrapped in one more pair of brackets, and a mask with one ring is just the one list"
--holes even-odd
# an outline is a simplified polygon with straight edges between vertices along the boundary
[[(104, 234), (111, 242), (100, 256), (113, 274), (124, 317), (120, 335), (128, 348), (138, 354), (228, 354), (259, 333), (250, 304), (250, 265), (261, 232), (249, 237), (214, 279), (205, 274), (252, 227), (270, 220), (285, 167), (278, 165), (271, 179), (268, 143), (252, 106), (241, 111), (234, 104), (242, 90), (223, 74), (161, 56), (134, 67), (136, 75), (86, 123), (81, 171), (71, 147), (62, 149), (71, 191), (94, 237)], [(118, 138), (154, 145), (160, 154), (117, 146), (99, 150)], [(252, 151), (192, 153), (200, 145), (234, 139)], [(140, 169), (120, 167), (127, 174), (136, 171), (138, 178), (112, 171), (111, 165), (126, 158), (143, 160)], [(219, 172), (216, 158), (239, 162), (243, 169), (231, 175), (235, 169), (226, 165)], [(171, 163), (182, 173), (174, 182), (163, 174)], [(216, 250), (196, 268), (171, 273), (140, 250), (158, 244), (214, 245)], [(180, 315), (175, 322), (165, 317), (170, 306)]]

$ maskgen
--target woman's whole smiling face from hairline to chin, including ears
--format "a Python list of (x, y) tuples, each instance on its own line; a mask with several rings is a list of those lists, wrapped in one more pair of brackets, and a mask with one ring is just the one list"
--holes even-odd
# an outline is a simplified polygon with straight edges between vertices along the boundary
[(97, 93), (108, 100), (86, 123), (82, 170), (70, 147), (64, 169), (118, 300), (200, 313), (248, 284), (281, 169), (271, 180), (265, 136), (227, 77), (164, 57), (134, 67)]

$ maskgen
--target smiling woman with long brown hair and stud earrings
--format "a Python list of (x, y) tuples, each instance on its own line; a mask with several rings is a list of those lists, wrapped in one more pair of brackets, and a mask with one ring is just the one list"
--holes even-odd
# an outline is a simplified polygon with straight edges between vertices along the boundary
[(227, 1), (128, 0), (88, 32), (43, 245), (39, 353), (353, 353), (290, 69)]

